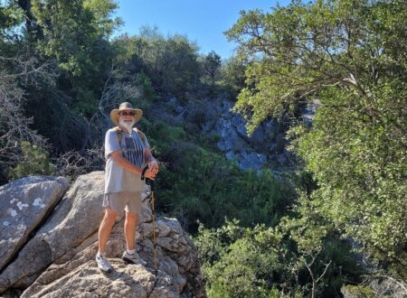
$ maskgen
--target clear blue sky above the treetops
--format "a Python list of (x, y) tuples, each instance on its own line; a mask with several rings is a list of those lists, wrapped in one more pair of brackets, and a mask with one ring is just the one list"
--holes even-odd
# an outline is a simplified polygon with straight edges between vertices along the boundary
[(117, 0), (124, 25), (118, 33), (135, 35), (142, 26), (158, 27), (163, 34), (183, 34), (198, 44), (202, 53), (216, 51), (222, 59), (232, 56), (235, 44), (224, 31), (239, 18), (241, 10), (288, 5), (289, 0)]

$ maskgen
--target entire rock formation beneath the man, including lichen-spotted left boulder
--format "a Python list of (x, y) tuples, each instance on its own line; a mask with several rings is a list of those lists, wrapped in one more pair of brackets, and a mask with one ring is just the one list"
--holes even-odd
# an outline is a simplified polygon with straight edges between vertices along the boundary
[(138, 254), (147, 265), (126, 265), (120, 259), (126, 247), (122, 214), (108, 243), (114, 271), (100, 273), (94, 256), (103, 217), (103, 178), (103, 172), (91, 172), (69, 188), (62, 177), (30, 177), (0, 187), (0, 293), (5, 297), (204, 297), (196, 249), (176, 219), (156, 219), (155, 270), (147, 196), (137, 232)]

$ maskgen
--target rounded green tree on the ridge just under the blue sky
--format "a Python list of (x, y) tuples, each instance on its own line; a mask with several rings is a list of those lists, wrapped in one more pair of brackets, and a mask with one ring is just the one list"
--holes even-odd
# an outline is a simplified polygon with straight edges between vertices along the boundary
[(129, 55), (129, 73), (143, 72), (153, 87), (165, 96), (185, 99), (185, 92), (197, 87), (200, 79), (198, 47), (185, 36), (164, 37), (156, 28), (142, 28), (137, 36), (121, 36), (120, 57)]

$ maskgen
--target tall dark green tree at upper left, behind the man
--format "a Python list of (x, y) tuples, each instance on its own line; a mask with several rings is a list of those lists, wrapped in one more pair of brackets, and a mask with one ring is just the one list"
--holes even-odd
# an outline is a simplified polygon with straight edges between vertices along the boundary
[(7, 48), (19, 56), (23, 51), (25, 61), (47, 65), (43, 72), (48, 72), (21, 82), (27, 99), (22, 113), (33, 117), (33, 129), (50, 140), (54, 152), (83, 149), (87, 121), (97, 110), (115, 54), (109, 36), (119, 24), (110, 17), (117, 5), (110, 0), (10, 3), (25, 23), (15, 26), (18, 38)]

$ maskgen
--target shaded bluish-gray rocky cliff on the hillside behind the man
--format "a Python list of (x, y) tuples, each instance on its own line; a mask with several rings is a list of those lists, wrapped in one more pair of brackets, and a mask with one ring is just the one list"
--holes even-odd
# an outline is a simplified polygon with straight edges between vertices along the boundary
[[(175, 98), (155, 107), (155, 115), (175, 126), (194, 123), (202, 133), (215, 139), (215, 143), (228, 160), (235, 161), (241, 169), (259, 171), (264, 167), (290, 167), (295, 163), (287, 150), (288, 120), (268, 119), (252, 135), (246, 130), (247, 121), (232, 111), (233, 102), (220, 96), (204, 102), (191, 100), (185, 107)], [(312, 122), (316, 106), (298, 109), (298, 121)]]

